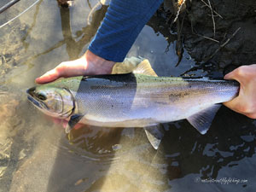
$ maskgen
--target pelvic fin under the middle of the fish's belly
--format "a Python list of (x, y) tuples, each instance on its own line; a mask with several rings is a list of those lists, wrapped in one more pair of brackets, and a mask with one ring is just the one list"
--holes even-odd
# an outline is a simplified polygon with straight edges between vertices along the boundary
[(164, 133), (160, 125), (154, 125), (150, 127), (145, 127), (144, 131), (148, 137), (149, 143), (153, 146), (154, 149), (158, 149)]

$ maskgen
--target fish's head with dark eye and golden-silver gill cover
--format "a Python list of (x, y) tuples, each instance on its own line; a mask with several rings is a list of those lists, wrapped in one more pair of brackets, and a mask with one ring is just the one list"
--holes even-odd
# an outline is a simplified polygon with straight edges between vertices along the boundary
[(60, 119), (68, 118), (74, 111), (73, 94), (66, 88), (38, 85), (26, 90), (27, 99), (43, 113)]

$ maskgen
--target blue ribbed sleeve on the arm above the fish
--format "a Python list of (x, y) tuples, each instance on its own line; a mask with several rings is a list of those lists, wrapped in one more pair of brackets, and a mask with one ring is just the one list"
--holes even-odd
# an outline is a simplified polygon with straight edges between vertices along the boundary
[(108, 61), (121, 62), (143, 26), (163, 0), (112, 0), (89, 49)]

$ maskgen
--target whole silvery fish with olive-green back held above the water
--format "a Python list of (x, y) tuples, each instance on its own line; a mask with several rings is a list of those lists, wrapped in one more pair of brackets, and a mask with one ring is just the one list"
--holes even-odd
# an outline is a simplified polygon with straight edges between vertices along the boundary
[(206, 134), (222, 102), (238, 95), (234, 80), (159, 77), (148, 60), (131, 73), (78, 76), (39, 84), (26, 91), (43, 113), (67, 119), (68, 133), (78, 124), (143, 127), (157, 149), (161, 123), (187, 119)]

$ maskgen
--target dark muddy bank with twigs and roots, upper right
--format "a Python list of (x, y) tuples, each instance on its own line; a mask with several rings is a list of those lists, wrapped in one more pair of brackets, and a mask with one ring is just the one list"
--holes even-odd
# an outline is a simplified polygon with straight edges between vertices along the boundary
[[(177, 22), (173, 23), (177, 15), (175, 7), (166, 2), (161, 17), (169, 20), (172, 32), (178, 32)], [(241, 65), (255, 63), (256, 2), (211, 0), (210, 3), (212, 10), (206, 5), (208, 1), (186, 1), (186, 8), (177, 20), (183, 22), (180, 25), (183, 48), (198, 63), (194, 69), (203, 68), (211, 73), (214, 68), (221, 76)]]

